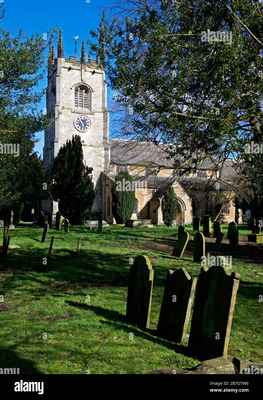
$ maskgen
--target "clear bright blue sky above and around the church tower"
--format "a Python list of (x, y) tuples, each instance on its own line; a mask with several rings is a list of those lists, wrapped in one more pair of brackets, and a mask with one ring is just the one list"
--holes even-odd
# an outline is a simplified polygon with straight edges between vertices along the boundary
[[(36, 32), (42, 36), (46, 30), (58, 26), (62, 29), (65, 57), (69, 58), (75, 55), (74, 36), (79, 36), (77, 46), (80, 54), (82, 40), (86, 43), (86, 38), (90, 38), (90, 29), (98, 28), (103, 8), (109, 5), (110, 3), (106, 0), (90, 0), (90, 2), (86, 0), (4, 0), (4, 18), (1, 25), (3, 29), (9, 30), (12, 36), (18, 34), (20, 26), (28, 36)], [(87, 45), (86, 54), (88, 54)], [(45, 78), (42, 87), (46, 86), (47, 79)], [(108, 98), (111, 93), (108, 88)], [(44, 96), (39, 106), (40, 110), (45, 106)], [(36, 143), (35, 150), (42, 155), (44, 132), (39, 133), (38, 138), (40, 141)]]

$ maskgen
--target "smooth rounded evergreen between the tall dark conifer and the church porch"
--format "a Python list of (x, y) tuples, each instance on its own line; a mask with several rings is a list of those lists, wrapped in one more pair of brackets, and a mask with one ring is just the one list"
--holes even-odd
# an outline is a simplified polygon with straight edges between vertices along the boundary
[(112, 186), (112, 214), (117, 224), (125, 224), (131, 219), (135, 204), (135, 190), (132, 177), (120, 171)]

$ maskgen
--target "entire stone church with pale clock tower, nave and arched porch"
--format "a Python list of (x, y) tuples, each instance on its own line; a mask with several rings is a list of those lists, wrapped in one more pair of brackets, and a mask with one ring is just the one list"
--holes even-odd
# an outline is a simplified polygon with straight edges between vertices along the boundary
[[(112, 215), (111, 187), (120, 171), (128, 171), (134, 177), (135, 204), (132, 220), (151, 220), (152, 224), (163, 224), (161, 200), (164, 191), (173, 186), (176, 193), (178, 210), (177, 224), (192, 224), (193, 217), (202, 218), (205, 214), (215, 213), (215, 207), (209, 204), (205, 195), (205, 183), (211, 176), (217, 175), (217, 163), (212, 157), (200, 166), (191, 176), (177, 176), (172, 160), (167, 160), (165, 150), (146, 142), (109, 138), (109, 112), (107, 110), (107, 86), (105, 73), (98, 59), (88, 56), (86, 61), (84, 41), (80, 60), (75, 56), (64, 57), (62, 32), (58, 38), (57, 57), (54, 46), (48, 55), (48, 88), (46, 91), (47, 114), (54, 114), (55, 120), (45, 130), (43, 160), (45, 166), (52, 163), (59, 148), (80, 135), (84, 162), (93, 168), (92, 180), (97, 192), (92, 207), (92, 216), (115, 224)], [(230, 165), (229, 168), (233, 168)], [(161, 168), (158, 167), (161, 165)], [(202, 182), (202, 188), (196, 190), (189, 186), (191, 180)], [(189, 187), (191, 189), (189, 189)], [(65, 188), (66, 190), (66, 188)], [(58, 203), (52, 198), (42, 201), (42, 211), (56, 214)], [(242, 211), (230, 202), (222, 210), (222, 222), (242, 221)]]

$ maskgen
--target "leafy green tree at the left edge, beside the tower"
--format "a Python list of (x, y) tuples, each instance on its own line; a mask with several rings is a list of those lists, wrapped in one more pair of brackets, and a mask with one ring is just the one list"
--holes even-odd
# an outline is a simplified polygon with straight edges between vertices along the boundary
[[(1, 10), (2, 4), (0, 22)], [(30, 201), (29, 194), (32, 201), (39, 201), (40, 194), (42, 199), (49, 195), (42, 189), (48, 174), (33, 148), (36, 133), (50, 125), (45, 112), (38, 110), (45, 89), (38, 91), (37, 86), (46, 73), (44, 52), (54, 34), (50, 30), (46, 37), (36, 34), (28, 38), (21, 28), (18, 36), (0, 29), (0, 210)]]

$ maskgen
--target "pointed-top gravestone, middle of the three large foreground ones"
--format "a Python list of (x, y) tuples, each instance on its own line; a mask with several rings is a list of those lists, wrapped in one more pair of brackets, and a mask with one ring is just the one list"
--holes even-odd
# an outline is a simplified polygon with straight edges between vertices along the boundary
[(191, 278), (185, 268), (168, 270), (157, 325), (157, 335), (181, 342), (189, 323), (197, 278)]

